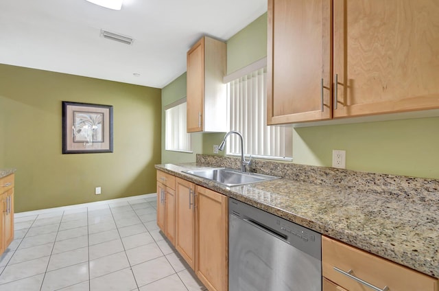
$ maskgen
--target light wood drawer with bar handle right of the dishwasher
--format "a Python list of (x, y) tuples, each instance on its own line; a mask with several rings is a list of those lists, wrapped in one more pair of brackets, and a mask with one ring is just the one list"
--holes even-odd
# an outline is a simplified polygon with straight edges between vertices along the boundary
[(367, 289), (335, 268), (344, 272), (352, 270), (351, 275), (377, 288), (388, 286), (390, 291), (438, 290), (438, 280), (433, 277), (322, 236), (323, 277), (349, 291)]

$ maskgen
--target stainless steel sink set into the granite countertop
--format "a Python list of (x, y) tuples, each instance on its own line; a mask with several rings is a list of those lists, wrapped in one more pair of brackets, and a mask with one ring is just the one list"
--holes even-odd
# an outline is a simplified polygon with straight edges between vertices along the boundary
[(184, 171), (187, 174), (198, 176), (200, 178), (206, 178), (211, 181), (226, 185), (228, 187), (246, 185), (250, 183), (257, 183), (263, 181), (270, 181), (278, 179), (279, 177), (268, 176), (256, 173), (243, 173), (238, 170), (220, 168), (209, 168), (200, 170)]

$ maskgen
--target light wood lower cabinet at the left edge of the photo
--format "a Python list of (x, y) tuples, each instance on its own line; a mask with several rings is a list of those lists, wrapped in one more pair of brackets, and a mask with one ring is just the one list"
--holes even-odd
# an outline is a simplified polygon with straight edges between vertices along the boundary
[(14, 174), (0, 178), (0, 254), (14, 240)]

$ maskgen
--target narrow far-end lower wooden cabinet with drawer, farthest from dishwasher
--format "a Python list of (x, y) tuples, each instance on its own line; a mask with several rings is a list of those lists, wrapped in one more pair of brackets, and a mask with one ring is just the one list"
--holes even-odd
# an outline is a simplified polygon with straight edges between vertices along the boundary
[(175, 245), (175, 176), (157, 171), (157, 225)]

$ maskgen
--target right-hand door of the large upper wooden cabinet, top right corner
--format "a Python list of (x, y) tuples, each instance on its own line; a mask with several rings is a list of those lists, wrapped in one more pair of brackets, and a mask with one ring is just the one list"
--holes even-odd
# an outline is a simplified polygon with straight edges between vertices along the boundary
[(333, 116), (439, 108), (438, 15), (435, 0), (334, 0)]

